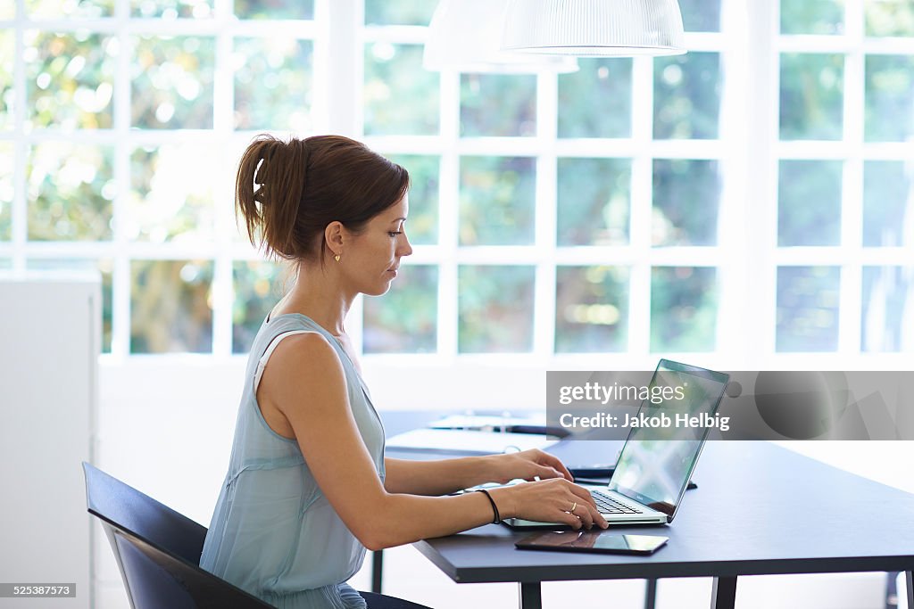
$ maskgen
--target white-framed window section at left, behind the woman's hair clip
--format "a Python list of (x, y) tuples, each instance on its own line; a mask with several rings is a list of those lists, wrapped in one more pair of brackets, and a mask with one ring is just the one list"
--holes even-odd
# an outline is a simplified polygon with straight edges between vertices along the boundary
[(244, 352), (278, 271), (238, 235), (232, 168), (258, 131), (321, 128), (314, 2), (0, 19), (0, 268), (99, 268), (104, 352)]

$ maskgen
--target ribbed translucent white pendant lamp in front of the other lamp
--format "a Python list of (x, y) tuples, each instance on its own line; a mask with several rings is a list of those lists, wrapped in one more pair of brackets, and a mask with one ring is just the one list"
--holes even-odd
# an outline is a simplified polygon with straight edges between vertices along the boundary
[(676, 0), (509, 0), (502, 48), (632, 57), (685, 53)]

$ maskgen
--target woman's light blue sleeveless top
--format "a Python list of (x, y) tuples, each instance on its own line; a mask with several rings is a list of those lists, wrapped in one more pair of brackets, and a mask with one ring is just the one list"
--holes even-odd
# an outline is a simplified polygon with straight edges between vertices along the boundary
[(319, 333), (333, 345), (358, 431), (384, 480), (384, 428), (342, 346), (304, 315), (265, 320), (251, 346), (228, 475), (200, 567), (281, 608), (365, 607), (345, 583), (361, 568), (365, 546), (324, 497), (297, 440), (275, 433), (257, 404), (260, 358), (276, 337), (293, 331)]

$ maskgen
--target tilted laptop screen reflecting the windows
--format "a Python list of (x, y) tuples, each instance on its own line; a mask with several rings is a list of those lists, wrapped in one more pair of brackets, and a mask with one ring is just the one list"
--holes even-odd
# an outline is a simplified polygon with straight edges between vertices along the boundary
[[(658, 403), (644, 400), (639, 415), (665, 413), (674, 419), (677, 414), (713, 416), (728, 379), (728, 374), (661, 360), (651, 379), (651, 394), (654, 394), (654, 386), (681, 387), (681, 393), (656, 392), (676, 395), (676, 398)], [(695, 469), (707, 432), (706, 426), (632, 427), (616, 463), (610, 489), (673, 516)]]

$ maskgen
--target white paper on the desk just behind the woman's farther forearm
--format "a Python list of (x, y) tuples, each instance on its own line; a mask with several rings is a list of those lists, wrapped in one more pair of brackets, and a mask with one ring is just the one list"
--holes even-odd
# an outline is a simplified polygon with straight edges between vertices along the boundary
[(556, 443), (537, 434), (503, 434), (469, 429), (414, 429), (388, 438), (388, 448), (429, 449), (465, 454), (516, 452)]

